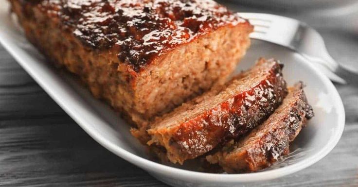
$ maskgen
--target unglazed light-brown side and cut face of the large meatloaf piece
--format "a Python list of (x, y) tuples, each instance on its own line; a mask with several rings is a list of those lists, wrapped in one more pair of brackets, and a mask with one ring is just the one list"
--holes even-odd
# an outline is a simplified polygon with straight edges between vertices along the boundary
[[(84, 44), (73, 34), (72, 26), (64, 24), (63, 17), (58, 17), (57, 5), (47, 7), (54, 1), (46, 6), (38, 4), (46, 0), (35, 1), (10, 0), (27, 38), (56, 66), (79, 75), (94, 96), (107, 100), (138, 127), (212, 85), (224, 82), (250, 46), (248, 35), (252, 26), (248, 22), (224, 24), (190, 42), (170, 48), (137, 72), (118, 58), (119, 48), (94, 49)], [(220, 36), (231, 39), (217, 39)], [(215, 39), (216, 51), (208, 43)], [(184, 55), (181, 55), (182, 51)], [(200, 53), (210, 58), (203, 60), (204, 57), (197, 55)], [(195, 57), (196, 60), (190, 62), (184, 57)]]

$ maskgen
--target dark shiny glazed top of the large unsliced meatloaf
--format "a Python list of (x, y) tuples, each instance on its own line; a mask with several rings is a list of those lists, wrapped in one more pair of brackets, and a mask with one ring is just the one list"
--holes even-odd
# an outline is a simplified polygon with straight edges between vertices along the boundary
[[(213, 0), (21, 0), (92, 49), (114, 48), (140, 72), (174, 47), (222, 26), (250, 25)], [(26, 8), (25, 8), (26, 10)]]

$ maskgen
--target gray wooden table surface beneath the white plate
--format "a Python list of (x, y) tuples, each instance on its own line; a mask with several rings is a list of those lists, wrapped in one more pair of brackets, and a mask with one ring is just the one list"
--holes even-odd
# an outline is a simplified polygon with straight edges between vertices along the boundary
[[(357, 33), (311, 24), (334, 58), (358, 66)], [(336, 148), (305, 170), (253, 186), (358, 187), (358, 87), (336, 86), (346, 110)], [(0, 186), (166, 185), (95, 142), (0, 46)]]

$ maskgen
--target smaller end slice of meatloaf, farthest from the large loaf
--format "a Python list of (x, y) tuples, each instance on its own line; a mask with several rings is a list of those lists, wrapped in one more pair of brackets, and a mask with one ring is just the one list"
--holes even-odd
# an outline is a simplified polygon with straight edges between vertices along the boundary
[(302, 83), (288, 88), (282, 105), (262, 125), (227, 151), (207, 156), (227, 172), (257, 171), (270, 166), (289, 153), (289, 143), (295, 139), (307, 119), (314, 116), (307, 103)]

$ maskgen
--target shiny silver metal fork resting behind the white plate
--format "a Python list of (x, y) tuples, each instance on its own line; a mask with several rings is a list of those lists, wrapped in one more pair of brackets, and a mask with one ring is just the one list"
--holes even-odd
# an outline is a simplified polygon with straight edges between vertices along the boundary
[(357, 72), (337, 63), (328, 53), (322, 36), (305, 23), (293, 18), (261, 13), (240, 13), (254, 26), (250, 37), (275, 43), (301, 53), (332, 81), (346, 84)]

